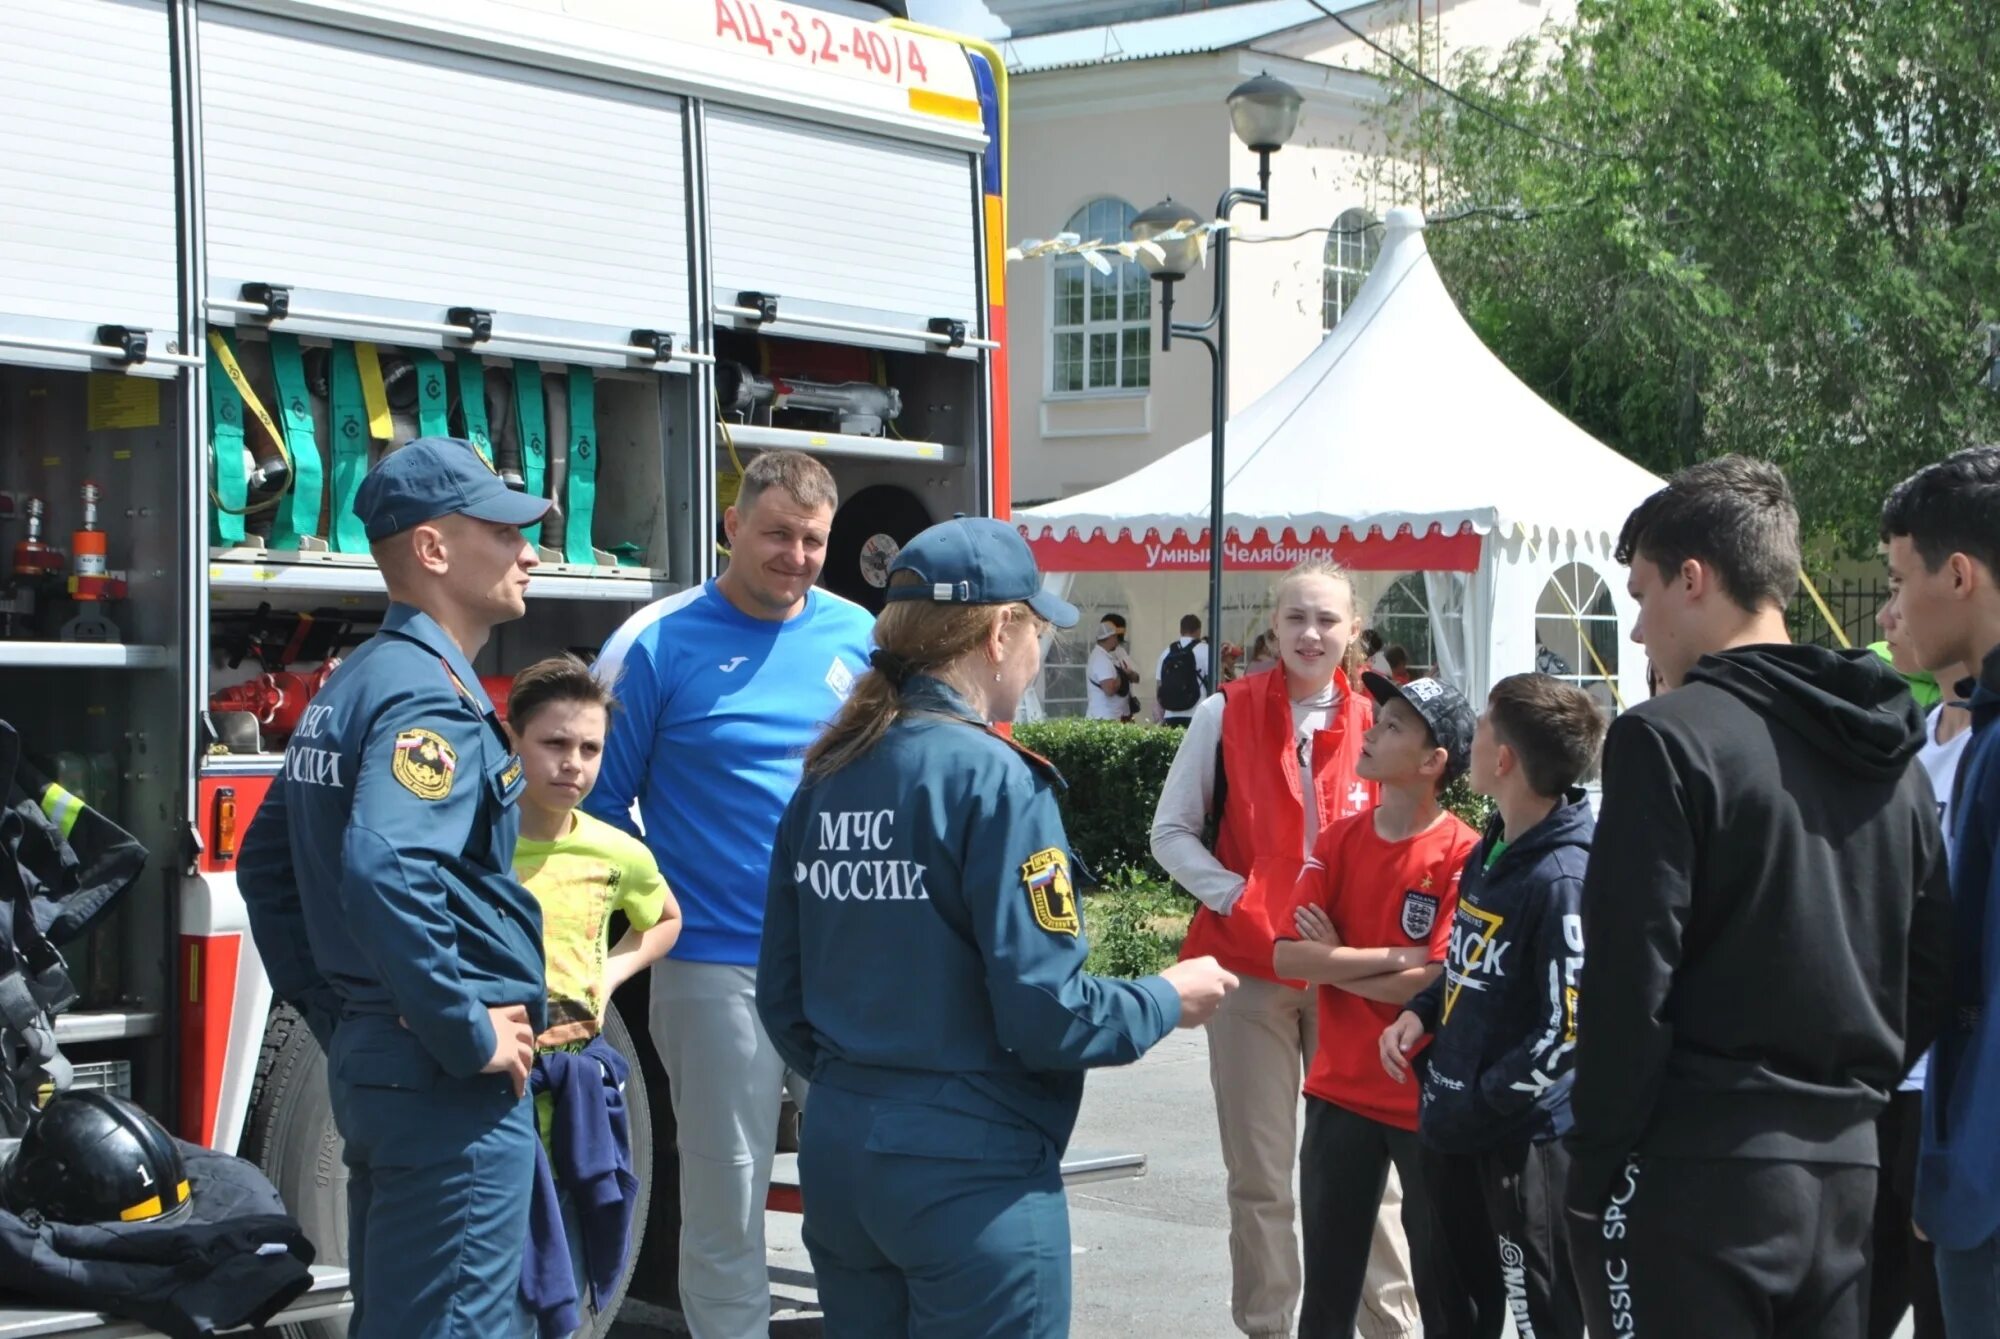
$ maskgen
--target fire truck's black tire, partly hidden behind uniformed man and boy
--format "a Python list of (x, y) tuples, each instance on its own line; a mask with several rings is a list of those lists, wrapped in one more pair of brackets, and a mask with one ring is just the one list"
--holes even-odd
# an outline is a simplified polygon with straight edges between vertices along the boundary
[[(616, 1005), (604, 1009), (604, 1041), (624, 1055), (632, 1067), (626, 1079), (626, 1117), (632, 1131), (632, 1175), (638, 1179), (638, 1203), (632, 1211), (632, 1243), (626, 1251), (626, 1271), (618, 1291), (594, 1317), (588, 1333), (600, 1339), (610, 1333), (618, 1307), (632, 1283), (646, 1237), (646, 1211), (652, 1201), (652, 1103), (646, 1099), (644, 1059)], [(306, 1019), (290, 1005), (272, 1009), (264, 1029), (264, 1049), (258, 1053), (256, 1087), (250, 1093), (250, 1117), (244, 1123), (244, 1157), (256, 1163), (278, 1187), (286, 1207), (312, 1239), (318, 1263), (348, 1261), (348, 1165), (342, 1161), (340, 1129), (334, 1127), (334, 1105), (326, 1087), (326, 1055), (314, 1041)], [(280, 1331), (284, 1339), (346, 1339), (346, 1321), (310, 1321)]]

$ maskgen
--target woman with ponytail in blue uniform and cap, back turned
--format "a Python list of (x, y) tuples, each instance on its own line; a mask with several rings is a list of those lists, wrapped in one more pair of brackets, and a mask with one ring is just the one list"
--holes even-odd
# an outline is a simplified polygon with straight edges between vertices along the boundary
[(920, 534), (778, 827), (758, 1011), (812, 1077), (798, 1161), (828, 1339), (1066, 1335), (1082, 1071), (1200, 1027), (1236, 985), (1210, 957), (1084, 973), (1062, 781), (992, 729), (1050, 624), (1076, 610), (1012, 526)]

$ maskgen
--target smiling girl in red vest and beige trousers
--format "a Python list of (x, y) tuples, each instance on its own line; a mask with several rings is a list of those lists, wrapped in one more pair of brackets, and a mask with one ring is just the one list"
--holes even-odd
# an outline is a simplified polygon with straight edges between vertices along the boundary
[[(1374, 705), (1340, 668), (1360, 632), (1354, 586), (1332, 564), (1302, 564), (1278, 580), (1272, 606), (1276, 671), (1224, 683), (1196, 707), (1152, 819), (1154, 859), (1202, 903), (1180, 955), (1210, 953), (1242, 981), (1208, 1023), (1208, 1073), (1228, 1169), (1230, 1309), (1252, 1337), (1290, 1335), (1298, 1307), (1292, 1165), (1318, 1019), (1310, 987), (1272, 975), (1272, 941), (1290, 933), (1292, 885), (1320, 827), (1376, 803), (1376, 787), (1354, 775)], [(1218, 799), (1210, 849), (1202, 837)], [(1418, 1327), (1402, 1197), (1392, 1199), (1368, 1261), (1362, 1339)]]

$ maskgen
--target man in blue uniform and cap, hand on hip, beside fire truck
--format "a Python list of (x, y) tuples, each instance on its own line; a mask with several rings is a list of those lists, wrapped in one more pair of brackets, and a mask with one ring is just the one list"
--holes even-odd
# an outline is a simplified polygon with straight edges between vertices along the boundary
[(514, 881), (514, 757), (472, 658), (526, 612), (548, 502), (422, 438), (354, 514), (382, 632), (314, 697), (238, 861), (278, 999), (326, 1047), (356, 1339), (520, 1331), (542, 919)]

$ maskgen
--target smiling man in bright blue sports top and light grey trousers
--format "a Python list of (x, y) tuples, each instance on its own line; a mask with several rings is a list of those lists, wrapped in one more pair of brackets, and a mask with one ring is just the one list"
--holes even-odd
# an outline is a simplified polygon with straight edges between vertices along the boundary
[(806, 745), (868, 668), (874, 616), (814, 588), (834, 478), (798, 452), (744, 470), (724, 514), (730, 566), (612, 634), (604, 769), (584, 811), (638, 831), (684, 929), (654, 963), (652, 1039), (680, 1147), (680, 1309), (696, 1339), (770, 1331), (764, 1195), (784, 1091), (804, 1099), (756, 1015), (770, 847)]

